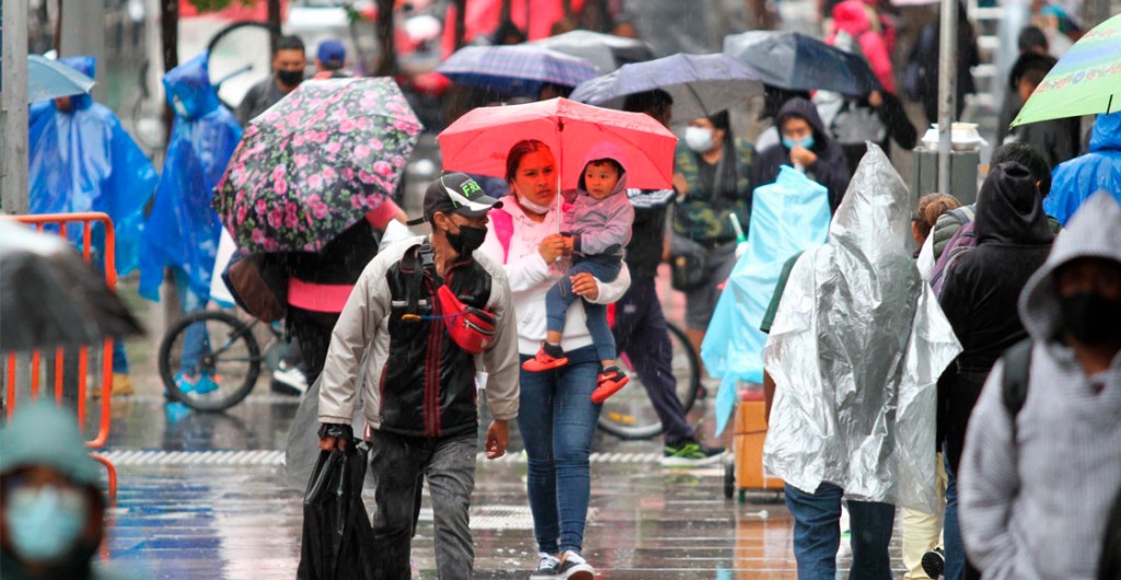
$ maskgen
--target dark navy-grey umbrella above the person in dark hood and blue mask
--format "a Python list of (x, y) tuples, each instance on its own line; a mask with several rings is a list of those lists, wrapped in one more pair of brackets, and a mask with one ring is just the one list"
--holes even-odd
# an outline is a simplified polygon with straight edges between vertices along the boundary
[(762, 82), (791, 91), (863, 96), (880, 88), (868, 63), (798, 32), (752, 31), (724, 37), (724, 54), (759, 72)]

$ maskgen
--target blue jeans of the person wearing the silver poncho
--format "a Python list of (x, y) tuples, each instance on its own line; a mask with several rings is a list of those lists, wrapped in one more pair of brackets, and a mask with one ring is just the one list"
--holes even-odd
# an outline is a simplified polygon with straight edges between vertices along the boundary
[[(828, 483), (807, 494), (789, 484), (786, 506), (794, 516), (794, 558), (798, 580), (834, 580), (837, 549), (841, 546), (841, 496), (844, 492)], [(878, 502), (849, 501), (852, 530), (852, 569), (850, 578), (891, 580), (888, 543), (896, 518), (896, 506)]]

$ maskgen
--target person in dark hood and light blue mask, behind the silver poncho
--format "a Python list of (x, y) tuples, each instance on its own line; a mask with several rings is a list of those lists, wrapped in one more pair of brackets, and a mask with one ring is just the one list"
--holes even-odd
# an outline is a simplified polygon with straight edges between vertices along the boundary
[(830, 209), (841, 205), (851, 175), (841, 146), (830, 137), (813, 103), (805, 99), (788, 101), (775, 116), (782, 142), (759, 153), (752, 171), (754, 187), (773, 184), (779, 168), (787, 165), (830, 191)]

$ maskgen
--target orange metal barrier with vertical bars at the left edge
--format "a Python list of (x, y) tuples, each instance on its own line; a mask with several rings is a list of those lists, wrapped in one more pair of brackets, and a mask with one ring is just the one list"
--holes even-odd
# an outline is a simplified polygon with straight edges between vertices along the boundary
[[(100, 212), (84, 212), (74, 214), (41, 214), (41, 215), (18, 215), (11, 216), (11, 218), (28, 224), (34, 225), (38, 231), (43, 231), (46, 226), (57, 226), (58, 235), (64, 240), (70, 240), (67, 236), (67, 226), (77, 226), (82, 228), (82, 256), (86, 262), (92, 261), (91, 245), (92, 245), (92, 226), (94, 223), (101, 223), (105, 228), (105, 247), (104, 247), (104, 268), (105, 268), (105, 283), (109, 288), (117, 288), (117, 264), (115, 264), (115, 233), (113, 231), (113, 221), (109, 215)], [(63, 401), (63, 380), (64, 380), (64, 353), (65, 348), (55, 348), (55, 400), (58, 402)], [(86, 383), (87, 371), (89, 371), (89, 347), (82, 346), (78, 349), (78, 376), (77, 376), (77, 423), (78, 429), (83, 432), (85, 431), (85, 415), (86, 415)], [(29, 368), (30, 380), (31, 380), (31, 399), (38, 399), (39, 396), (39, 383), (40, 383), (40, 363), (41, 353), (39, 350), (31, 352), (31, 365)], [(100, 449), (104, 447), (105, 442), (109, 440), (109, 429), (112, 422), (112, 413), (110, 412), (110, 405), (112, 402), (113, 392), (113, 339), (106, 338), (102, 345), (102, 373), (101, 373), (101, 420), (98, 427), (98, 434), (85, 442), (86, 447), (91, 449)], [(8, 389), (7, 389), (7, 406), (8, 406), (8, 418), (11, 419), (12, 413), (16, 410), (16, 377), (17, 377), (17, 357), (16, 353), (8, 354)], [(105, 459), (104, 457), (93, 453), (93, 458), (105, 466), (109, 475), (109, 498), (110, 503), (114, 504), (117, 501), (117, 468)]]

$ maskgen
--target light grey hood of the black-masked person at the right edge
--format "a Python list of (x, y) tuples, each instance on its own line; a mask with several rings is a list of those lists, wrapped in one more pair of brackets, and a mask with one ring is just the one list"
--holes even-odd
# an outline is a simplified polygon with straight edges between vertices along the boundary
[(1078, 258), (1104, 258), (1121, 263), (1121, 205), (1106, 191), (1099, 191), (1074, 214), (1055, 241), (1050, 255), (1020, 294), (1020, 319), (1028, 334), (1040, 343), (1059, 333), (1062, 311), (1055, 293), (1055, 270)]

